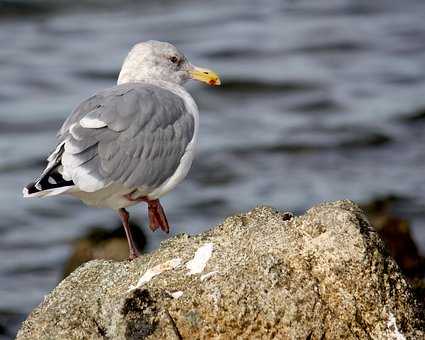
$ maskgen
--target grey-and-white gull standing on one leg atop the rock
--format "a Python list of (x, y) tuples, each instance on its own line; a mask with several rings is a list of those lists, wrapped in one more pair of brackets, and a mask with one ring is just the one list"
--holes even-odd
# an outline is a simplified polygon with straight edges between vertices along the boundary
[(175, 46), (133, 46), (117, 85), (80, 103), (57, 134), (55, 150), (24, 197), (71, 195), (117, 211), (129, 245), (140, 254), (126, 208), (147, 203), (149, 228), (169, 232), (159, 198), (188, 174), (198, 140), (199, 112), (183, 88), (189, 79), (220, 85), (218, 75), (192, 65)]

